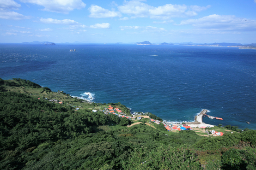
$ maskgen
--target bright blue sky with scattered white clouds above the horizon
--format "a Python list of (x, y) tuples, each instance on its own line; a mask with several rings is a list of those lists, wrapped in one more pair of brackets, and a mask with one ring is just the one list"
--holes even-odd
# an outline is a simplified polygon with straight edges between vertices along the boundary
[(256, 43), (256, 0), (0, 0), (0, 43)]

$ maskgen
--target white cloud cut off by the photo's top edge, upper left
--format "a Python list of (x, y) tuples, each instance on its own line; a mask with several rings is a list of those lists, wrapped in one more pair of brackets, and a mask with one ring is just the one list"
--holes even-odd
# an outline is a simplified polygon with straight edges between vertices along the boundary
[(81, 9), (86, 6), (82, 0), (20, 0), (24, 3), (31, 3), (43, 6), (43, 11), (68, 13), (74, 9)]

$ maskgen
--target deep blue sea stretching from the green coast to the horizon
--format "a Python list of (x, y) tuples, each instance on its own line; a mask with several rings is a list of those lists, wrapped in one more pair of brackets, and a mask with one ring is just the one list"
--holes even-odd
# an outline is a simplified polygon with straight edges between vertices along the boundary
[[(70, 49), (76, 50), (71, 52)], [(170, 122), (256, 129), (256, 50), (134, 44), (0, 44), (0, 77), (22, 78)], [(250, 124), (246, 123), (250, 122)]]

